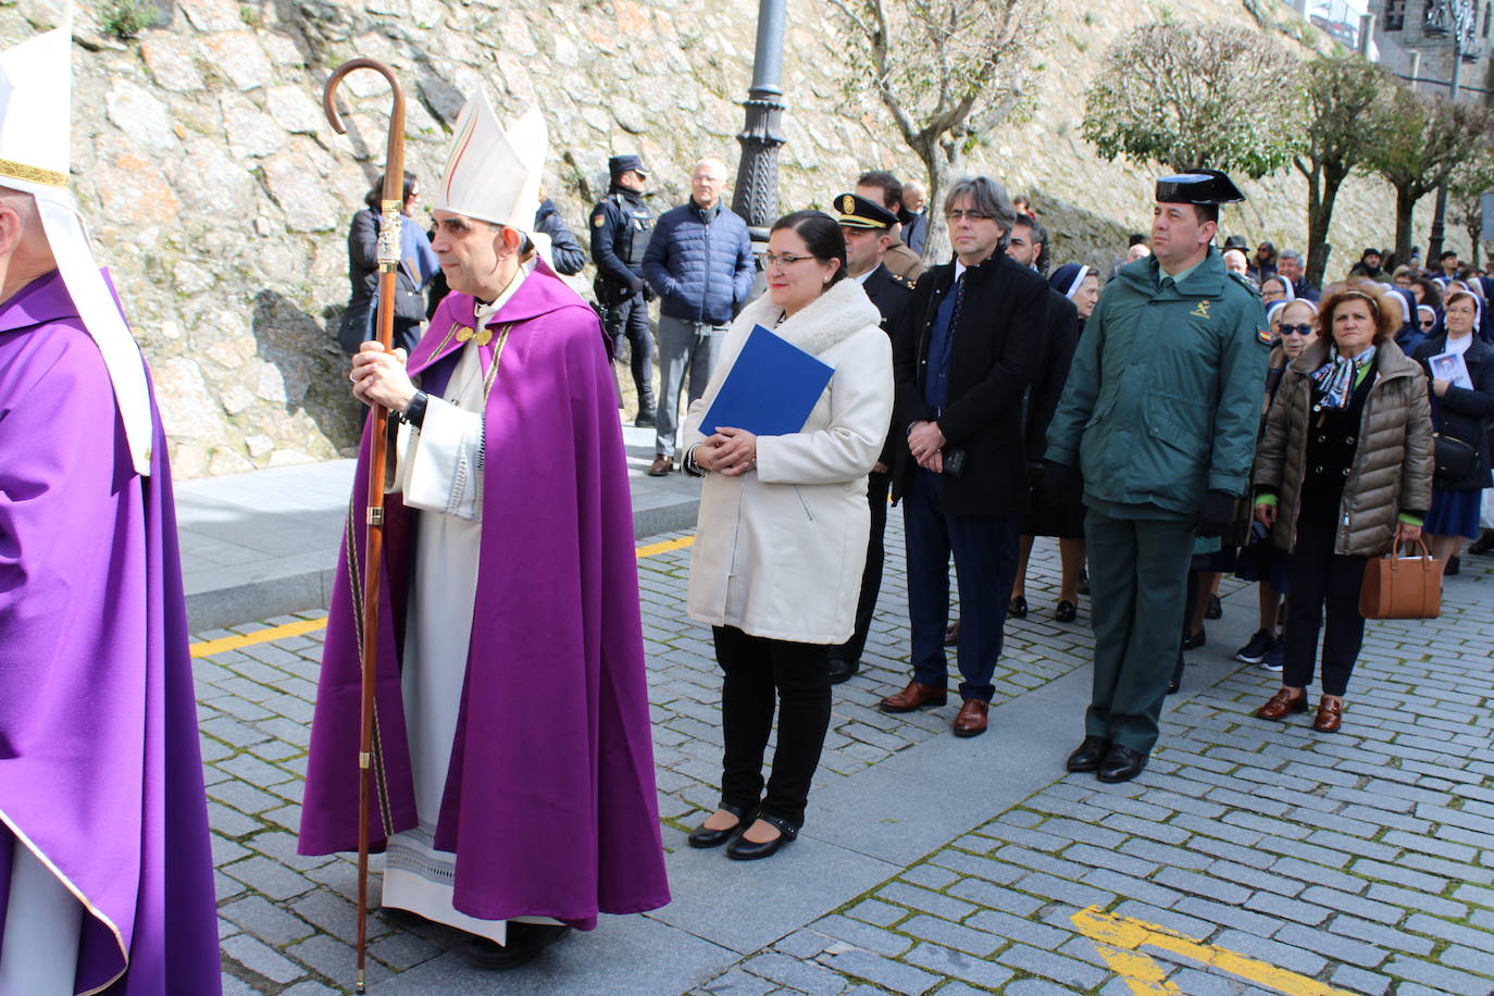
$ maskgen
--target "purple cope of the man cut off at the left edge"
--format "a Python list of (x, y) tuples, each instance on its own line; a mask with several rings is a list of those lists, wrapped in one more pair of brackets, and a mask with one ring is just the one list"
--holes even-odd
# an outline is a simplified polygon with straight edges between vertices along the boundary
[(166, 438), (136, 475), (55, 272), (0, 305), (0, 921), (22, 841), (88, 912), (76, 992), (221, 992)]

